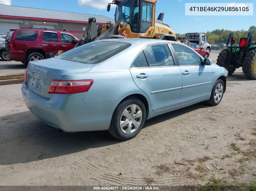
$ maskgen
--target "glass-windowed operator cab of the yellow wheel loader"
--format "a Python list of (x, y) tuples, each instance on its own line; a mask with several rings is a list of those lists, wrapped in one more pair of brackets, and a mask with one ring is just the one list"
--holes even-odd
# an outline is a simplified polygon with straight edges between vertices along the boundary
[[(133, 33), (146, 33), (153, 26), (153, 9), (155, 8), (153, 1), (145, 0), (122, 0), (115, 1), (115, 23), (125, 21), (131, 27)], [(108, 11), (110, 4), (108, 5)]]

